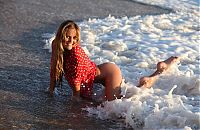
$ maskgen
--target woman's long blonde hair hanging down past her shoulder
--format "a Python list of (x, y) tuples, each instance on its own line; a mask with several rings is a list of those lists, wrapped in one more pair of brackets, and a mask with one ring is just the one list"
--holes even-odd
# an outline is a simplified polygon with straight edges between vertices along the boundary
[[(80, 43), (80, 28), (78, 25), (71, 20), (64, 21), (58, 28), (58, 31), (56, 33), (56, 37), (53, 42), (55, 42), (55, 55), (53, 55), (53, 61), (52, 61), (52, 74), (53, 78), (55, 78), (56, 83), (59, 85), (62, 85), (62, 76), (63, 76), (63, 52), (64, 48), (62, 45), (62, 41), (65, 37), (65, 33), (68, 29), (75, 29), (76, 30), (76, 36), (77, 36), (77, 43)], [(52, 43), (53, 44), (53, 43)]]

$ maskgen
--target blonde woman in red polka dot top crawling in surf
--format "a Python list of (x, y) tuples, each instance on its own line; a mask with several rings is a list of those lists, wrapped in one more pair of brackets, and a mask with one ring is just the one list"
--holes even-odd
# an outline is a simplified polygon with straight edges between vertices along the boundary
[[(159, 62), (157, 70), (148, 77), (142, 77), (138, 87), (151, 87), (158, 75), (169, 68), (177, 57)], [(80, 97), (91, 99), (93, 83), (105, 86), (105, 100), (120, 98), (122, 74), (119, 67), (113, 63), (96, 65), (85, 54), (80, 46), (80, 29), (71, 21), (63, 22), (58, 28), (52, 42), (50, 94), (53, 95), (56, 83), (60, 83), (62, 76), (68, 81), (73, 90), (73, 99)]]

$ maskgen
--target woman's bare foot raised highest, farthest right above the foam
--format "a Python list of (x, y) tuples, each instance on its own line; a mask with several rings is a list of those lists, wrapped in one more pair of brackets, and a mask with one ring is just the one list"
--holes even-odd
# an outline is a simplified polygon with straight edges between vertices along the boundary
[(169, 67), (179, 60), (178, 57), (171, 56), (165, 61), (158, 62), (157, 71), (159, 73), (163, 73), (169, 69)]

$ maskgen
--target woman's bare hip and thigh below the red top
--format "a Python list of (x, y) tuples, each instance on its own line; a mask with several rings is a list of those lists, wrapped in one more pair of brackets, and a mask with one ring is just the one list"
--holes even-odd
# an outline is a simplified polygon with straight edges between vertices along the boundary
[(120, 97), (122, 74), (117, 65), (113, 63), (98, 65), (94, 82), (105, 86), (106, 100), (111, 101)]

